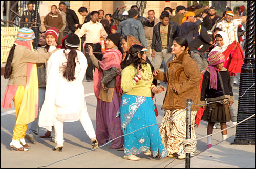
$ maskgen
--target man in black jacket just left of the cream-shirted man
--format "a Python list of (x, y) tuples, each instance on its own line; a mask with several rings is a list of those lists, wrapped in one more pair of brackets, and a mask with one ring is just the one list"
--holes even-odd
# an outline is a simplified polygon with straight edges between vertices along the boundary
[[(72, 9), (68, 9), (65, 2), (59, 3), (59, 10), (62, 12), (66, 12), (66, 27), (63, 31), (63, 36), (66, 36), (68, 32), (75, 33), (76, 31), (76, 24), (79, 24), (79, 19)], [(64, 21), (63, 21), (64, 22)]]

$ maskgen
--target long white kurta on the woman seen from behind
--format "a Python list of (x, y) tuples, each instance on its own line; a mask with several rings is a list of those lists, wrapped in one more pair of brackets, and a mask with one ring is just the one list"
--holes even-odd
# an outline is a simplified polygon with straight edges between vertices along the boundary
[[(65, 52), (69, 53), (69, 49)], [(64, 49), (53, 53), (47, 63), (47, 83), (45, 101), (39, 117), (39, 126), (51, 131), (56, 118), (62, 122), (74, 122), (82, 113), (87, 114), (82, 80), (86, 73), (87, 60), (81, 51), (76, 50), (75, 80), (63, 77), (63, 64), (67, 62)]]

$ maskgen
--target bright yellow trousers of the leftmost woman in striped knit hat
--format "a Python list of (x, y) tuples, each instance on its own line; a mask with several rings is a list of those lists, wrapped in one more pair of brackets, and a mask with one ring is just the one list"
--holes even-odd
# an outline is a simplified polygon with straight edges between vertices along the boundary
[[(19, 114), (20, 104), (22, 104), (24, 91), (25, 91), (25, 87), (24, 86), (19, 86), (17, 91), (16, 91), (16, 94), (13, 98), (14, 106), (16, 108), (16, 117), (18, 117), (18, 114)], [(27, 127), (28, 127), (28, 124), (26, 124), (26, 125), (20, 125), (20, 124), (16, 125), (15, 124), (14, 129), (13, 129), (12, 139), (15, 139), (15, 140), (19, 141), (20, 139), (24, 138), (25, 134), (26, 134), (26, 131), (27, 131)]]

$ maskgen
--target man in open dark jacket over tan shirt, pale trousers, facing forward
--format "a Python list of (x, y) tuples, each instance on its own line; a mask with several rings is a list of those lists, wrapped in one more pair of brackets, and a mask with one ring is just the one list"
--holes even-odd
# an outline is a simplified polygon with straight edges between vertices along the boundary
[(169, 13), (162, 12), (161, 22), (154, 26), (153, 38), (151, 43), (152, 59), (154, 58), (154, 68), (159, 69), (164, 60), (164, 73), (166, 73), (168, 62), (172, 59), (173, 39), (177, 36), (178, 24), (169, 21)]

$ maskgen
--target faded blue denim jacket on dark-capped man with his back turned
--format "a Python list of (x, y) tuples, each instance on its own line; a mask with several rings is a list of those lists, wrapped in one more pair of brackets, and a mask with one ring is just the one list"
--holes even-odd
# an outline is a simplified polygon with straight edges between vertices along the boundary
[(134, 36), (147, 48), (146, 37), (140, 21), (134, 18), (128, 18), (119, 24), (116, 32), (121, 33), (123, 37), (126, 35)]

